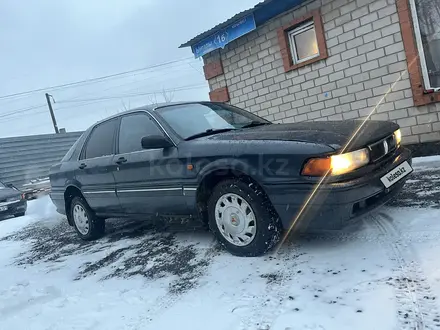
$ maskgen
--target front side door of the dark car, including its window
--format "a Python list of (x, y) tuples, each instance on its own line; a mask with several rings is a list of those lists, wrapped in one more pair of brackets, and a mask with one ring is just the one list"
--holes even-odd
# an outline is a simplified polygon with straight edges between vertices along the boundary
[(116, 191), (127, 214), (187, 214), (183, 161), (177, 147), (144, 150), (143, 137), (165, 136), (146, 112), (121, 117), (115, 162)]

